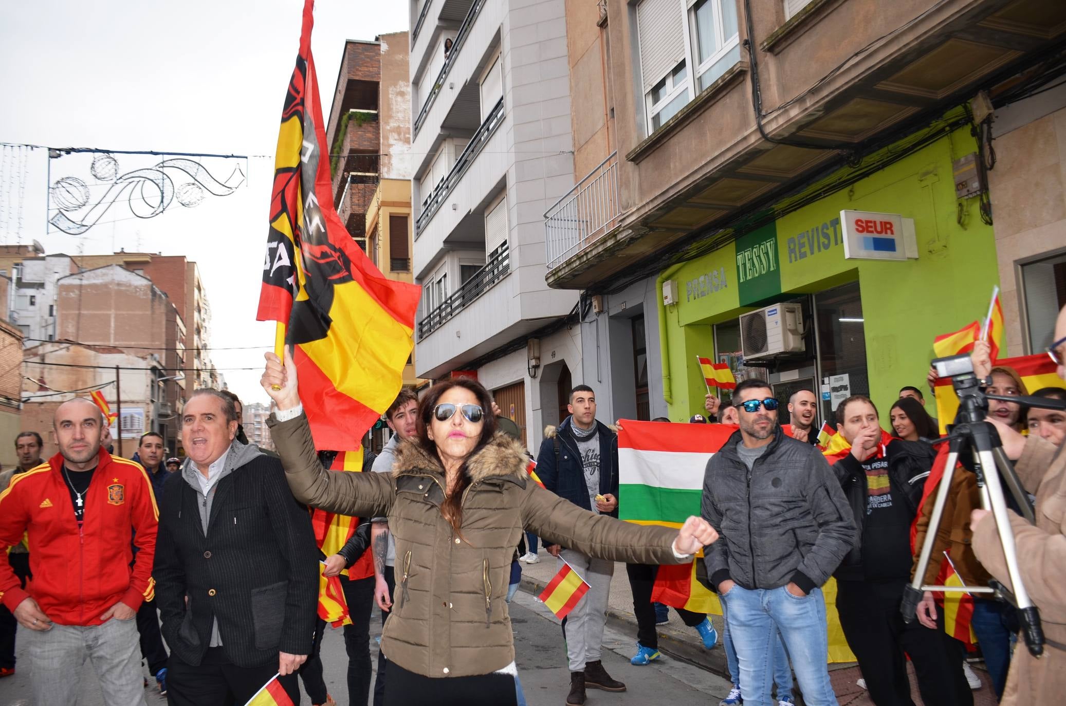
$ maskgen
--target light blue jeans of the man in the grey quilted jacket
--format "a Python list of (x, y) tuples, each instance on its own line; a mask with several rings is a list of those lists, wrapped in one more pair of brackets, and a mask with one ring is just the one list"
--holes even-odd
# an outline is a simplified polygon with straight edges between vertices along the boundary
[(771, 696), (774, 642), (785, 643), (804, 703), (837, 706), (829, 684), (829, 639), (821, 589), (803, 598), (777, 589), (749, 591), (733, 585), (724, 596), (728, 625), (737, 649), (740, 690), (746, 706), (773, 706)]

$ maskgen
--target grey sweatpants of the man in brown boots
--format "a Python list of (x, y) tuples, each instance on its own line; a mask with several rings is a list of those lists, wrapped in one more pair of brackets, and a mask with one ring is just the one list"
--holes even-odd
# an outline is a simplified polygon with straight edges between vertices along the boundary
[[(607, 599), (611, 593), (614, 562), (593, 559), (574, 549), (559, 552), (588, 583), (588, 592), (566, 616), (566, 658), (571, 672), (583, 672), (585, 662), (600, 658), (603, 647), (603, 624), (607, 623)], [(563, 562), (559, 562), (563, 567)]]

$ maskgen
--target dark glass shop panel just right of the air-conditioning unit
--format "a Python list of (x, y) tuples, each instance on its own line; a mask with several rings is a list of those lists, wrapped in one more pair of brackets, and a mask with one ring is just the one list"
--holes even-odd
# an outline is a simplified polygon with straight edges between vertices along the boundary
[[(822, 399), (822, 418), (833, 420), (834, 400), (870, 395), (867, 372), (866, 327), (857, 282), (814, 295), (818, 341), (822, 358), (822, 384), (829, 380), (830, 398)], [(899, 381), (899, 386), (922, 381)], [(823, 388), (824, 391), (824, 388)]]

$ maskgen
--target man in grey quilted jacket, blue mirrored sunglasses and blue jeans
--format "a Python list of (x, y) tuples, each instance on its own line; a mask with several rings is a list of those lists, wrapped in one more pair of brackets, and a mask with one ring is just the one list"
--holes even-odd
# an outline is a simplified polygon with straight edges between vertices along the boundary
[(840, 484), (818, 449), (785, 435), (770, 385), (733, 391), (740, 431), (707, 463), (702, 515), (724, 541), (704, 561), (728, 611), (744, 703), (771, 702), (779, 631), (810, 706), (836, 706), (821, 587), (855, 542)]

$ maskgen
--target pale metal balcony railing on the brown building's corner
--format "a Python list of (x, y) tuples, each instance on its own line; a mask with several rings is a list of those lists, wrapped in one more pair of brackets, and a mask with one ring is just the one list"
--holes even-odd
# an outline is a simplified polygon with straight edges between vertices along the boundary
[(617, 225), (617, 155), (611, 153), (544, 214), (549, 270)]

